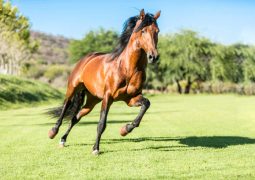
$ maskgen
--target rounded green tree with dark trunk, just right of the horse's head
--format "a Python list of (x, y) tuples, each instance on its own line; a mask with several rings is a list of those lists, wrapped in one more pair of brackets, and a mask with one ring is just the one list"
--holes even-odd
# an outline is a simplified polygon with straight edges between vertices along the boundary
[(208, 39), (189, 30), (165, 36), (159, 43), (160, 68), (165, 70), (164, 77), (168, 78), (165, 81), (168, 83), (171, 78), (177, 83), (178, 92), (182, 93), (180, 81), (186, 80), (184, 93), (188, 94), (194, 81), (209, 79), (212, 47), (213, 43)]

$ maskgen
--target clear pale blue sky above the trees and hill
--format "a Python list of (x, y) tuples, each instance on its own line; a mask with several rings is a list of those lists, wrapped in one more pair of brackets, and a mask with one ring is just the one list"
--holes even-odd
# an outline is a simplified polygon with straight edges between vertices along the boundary
[(99, 27), (121, 31), (124, 21), (139, 13), (161, 10), (161, 33), (198, 31), (213, 41), (255, 44), (254, 0), (11, 0), (32, 23), (32, 29), (82, 38)]

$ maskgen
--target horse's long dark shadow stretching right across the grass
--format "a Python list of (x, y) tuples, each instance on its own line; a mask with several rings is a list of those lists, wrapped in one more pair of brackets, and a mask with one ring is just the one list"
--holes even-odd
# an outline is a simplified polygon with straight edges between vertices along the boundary
[[(255, 144), (255, 139), (241, 136), (191, 136), (183, 138), (171, 137), (142, 137), (142, 138), (120, 138), (120, 139), (102, 139), (102, 144), (116, 144), (116, 143), (142, 143), (142, 142), (178, 142), (178, 145), (153, 145), (144, 148), (126, 149), (124, 151), (143, 151), (143, 150), (157, 150), (157, 151), (188, 151), (199, 148), (227, 148), (234, 145)], [(70, 146), (87, 146), (92, 144), (73, 144)], [(121, 150), (106, 150), (103, 153), (117, 152)]]

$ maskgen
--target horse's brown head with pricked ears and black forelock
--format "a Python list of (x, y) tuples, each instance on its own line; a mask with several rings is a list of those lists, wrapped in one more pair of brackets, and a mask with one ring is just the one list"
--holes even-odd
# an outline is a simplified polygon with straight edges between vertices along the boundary
[(142, 9), (139, 15), (139, 20), (133, 31), (133, 37), (138, 48), (142, 48), (146, 54), (149, 63), (155, 63), (159, 59), (157, 50), (159, 28), (157, 19), (160, 16), (160, 11), (155, 15), (145, 14)]

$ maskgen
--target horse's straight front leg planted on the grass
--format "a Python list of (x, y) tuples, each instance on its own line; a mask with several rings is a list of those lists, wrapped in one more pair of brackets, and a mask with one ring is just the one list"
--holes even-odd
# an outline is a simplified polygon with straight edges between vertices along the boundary
[(113, 102), (112, 97), (110, 95), (105, 94), (103, 102), (102, 102), (102, 107), (101, 107), (100, 120), (97, 126), (96, 143), (93, 146), (92, 154), (94, 155), (99, 154), (99, 143), (100, 143), (101, 136), (106, 128), (107, 114), (112, 102)]

